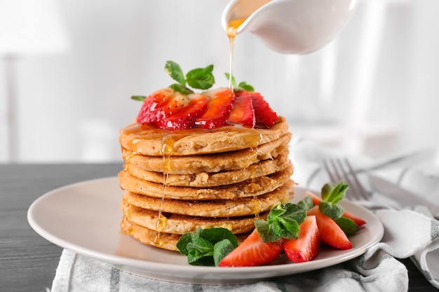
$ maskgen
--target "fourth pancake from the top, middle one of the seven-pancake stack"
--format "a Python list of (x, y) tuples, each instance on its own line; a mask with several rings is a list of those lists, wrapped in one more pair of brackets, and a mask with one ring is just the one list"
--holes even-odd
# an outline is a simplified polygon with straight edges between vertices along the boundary
[(289, 181), (291, 175), (292, 168), (288, 167), (288, 169), (281, 172), (259, 176), (255, 179), (248, 179), (247, 181), (227, 186), (212, 188), (166, 186), (165, 192), (163, 192), (162, 183), (138, 179), (125, 170), (119, 172), (119, 181), (123, 190), (148, 195), (149, 197), (163, 197), (164, 199), (175, 200), (232, 200), (239, 197), (255, 197), (269, 193)]

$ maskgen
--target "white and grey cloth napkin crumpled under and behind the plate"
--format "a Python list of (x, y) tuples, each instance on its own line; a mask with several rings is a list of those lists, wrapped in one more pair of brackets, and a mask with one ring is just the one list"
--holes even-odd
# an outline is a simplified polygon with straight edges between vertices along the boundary
[[(328, 181), (322, 169), (323, 158), (338, 153), (304, 139), (293, 139), (290, 151), (295, 164), (293, 179), (298, 186), (319, 190)], [(351, 161), (367, 188), (367, 175), (373, 173), (428, 196), (434, 203), (439, 202), (439, 164), (435, 165), (435, 155), (435, 151), (421, 151), (386, 160)], [(385, 202), (385, 194), (379, 193), (372, 193), (370, 202), (365, 202), (379, 206), (375, 214), (384, 225), (381, 242), (358, 258), (320, 270), (245, 285), (179, 284), (140, 277), (64, 250), (51, 291), (407, 291), (407, 269), (398, 258), (412, 258), (426, 279), (439, 288), (439, 221), (431, 216), (428, 206), (396, 210), (383, 208)]]

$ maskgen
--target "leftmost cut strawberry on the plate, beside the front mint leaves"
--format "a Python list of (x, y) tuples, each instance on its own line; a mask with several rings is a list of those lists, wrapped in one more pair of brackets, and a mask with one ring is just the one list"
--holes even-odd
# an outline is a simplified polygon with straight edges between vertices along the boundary
[(219, 267), (264, 265), (274, 260), (281, 251), (281, 239), (276, 242), (264, 242), (255, 229), (236, 249), (219, 262)]

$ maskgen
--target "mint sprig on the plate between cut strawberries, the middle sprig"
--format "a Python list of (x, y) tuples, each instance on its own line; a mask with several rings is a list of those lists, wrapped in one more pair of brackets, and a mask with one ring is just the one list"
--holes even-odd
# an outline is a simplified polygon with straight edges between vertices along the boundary
[(278, 204), (271, 209), (266, 221), (257, 219), (255, 226), (264, 242), (276, 242), (281, 238), (299, 236), (299, 224), (306, 218), (306, 209), (298, 204)]

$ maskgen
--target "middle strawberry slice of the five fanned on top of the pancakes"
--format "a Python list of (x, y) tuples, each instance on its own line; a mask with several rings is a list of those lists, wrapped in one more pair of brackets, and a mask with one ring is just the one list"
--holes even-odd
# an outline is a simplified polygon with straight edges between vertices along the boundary
[(235, 102), (234, 92), (229, 88), (219, 88), (203, 92), (208, 99), (208, 109), (196, 118), (195, 124), (205, 129), (214, 129), (226, 125)]

